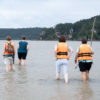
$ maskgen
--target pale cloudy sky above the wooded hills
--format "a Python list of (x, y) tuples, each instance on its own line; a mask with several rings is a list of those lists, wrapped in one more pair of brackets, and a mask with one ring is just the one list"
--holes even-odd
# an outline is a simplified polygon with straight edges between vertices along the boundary
[(100, 0), (0, 0), (0, 28), (55, 27), (100, 15)]

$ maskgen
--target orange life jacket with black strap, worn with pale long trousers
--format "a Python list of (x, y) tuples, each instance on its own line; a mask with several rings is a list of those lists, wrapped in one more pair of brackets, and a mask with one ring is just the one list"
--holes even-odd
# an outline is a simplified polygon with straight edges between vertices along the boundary
[(67, 44), (64, 42), (58, 43), (56, 53), (57, 53), (57, 55), (56, 55), (57, 59), (68, 59), (69, 57), (68, 57)]

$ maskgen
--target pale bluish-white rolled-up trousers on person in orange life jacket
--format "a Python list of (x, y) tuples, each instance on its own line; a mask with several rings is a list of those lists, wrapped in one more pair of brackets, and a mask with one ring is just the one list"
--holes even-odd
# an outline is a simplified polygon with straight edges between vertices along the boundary
[(63, 68), (64, 75), (68, 73), (68, 60), (57, 59), (56, 61), (56, 73), (60, 74), (61, 68)]

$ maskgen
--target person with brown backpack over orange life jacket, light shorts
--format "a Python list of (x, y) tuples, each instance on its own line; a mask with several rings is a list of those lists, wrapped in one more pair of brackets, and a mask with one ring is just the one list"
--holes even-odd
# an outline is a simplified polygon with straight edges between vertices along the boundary
[(7, 42), (4, 45), (4, 63), (6, 64), (6, 72), (9, 72), (10, 69), (13, 70), (13, 56), (15, 54), (14, 43), (11, 42), (11, 37), (6, 37)]

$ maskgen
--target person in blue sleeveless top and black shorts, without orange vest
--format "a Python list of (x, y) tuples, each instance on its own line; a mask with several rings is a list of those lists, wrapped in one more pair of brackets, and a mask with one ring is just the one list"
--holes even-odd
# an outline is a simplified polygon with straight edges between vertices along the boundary
[(22, 40), (18, 44), (18, 64), (24, 66), (25, 65), (25, 60), (26, 56), (29, 50), (28, 42), (26, 41), (26, 37), (23, 36)]

